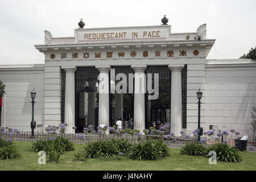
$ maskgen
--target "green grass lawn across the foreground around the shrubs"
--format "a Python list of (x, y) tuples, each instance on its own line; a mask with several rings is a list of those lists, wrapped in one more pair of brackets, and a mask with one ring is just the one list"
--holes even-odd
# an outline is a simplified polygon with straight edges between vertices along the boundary
[(217, 161), (210, 165), (203, 156), (184, 156), (179, 154), (179, 148), (170, 148), (170, 156), (162, 160), (137, 161), (122, 157), (121, 160), (88, 159), (86, 162), (73, 161), (73, 155), (81, 150), (81, 144), (75, 144), (75, 151), (61, 155), (60, 163), (38, 164), (38, 154), (31, 152), (31, 142), (16, 142), (22, 153), (21, 159), (0, 160), (0, 170), (256, 170), (256, 152), (242, 152), (240, 163), (225, 163)]

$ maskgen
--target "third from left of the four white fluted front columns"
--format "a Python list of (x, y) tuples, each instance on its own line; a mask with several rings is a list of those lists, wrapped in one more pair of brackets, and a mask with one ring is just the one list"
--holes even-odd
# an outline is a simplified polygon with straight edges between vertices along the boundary
[(145, 129), (145, 98), (147, 65), (131, 65), (134, 70), (134, 129)]

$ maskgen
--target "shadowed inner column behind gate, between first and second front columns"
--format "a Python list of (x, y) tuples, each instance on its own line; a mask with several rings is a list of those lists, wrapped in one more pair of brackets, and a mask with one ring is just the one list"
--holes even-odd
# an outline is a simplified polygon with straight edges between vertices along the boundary
[(95, 126), (96, 93), (88, 93), (88, 125)]

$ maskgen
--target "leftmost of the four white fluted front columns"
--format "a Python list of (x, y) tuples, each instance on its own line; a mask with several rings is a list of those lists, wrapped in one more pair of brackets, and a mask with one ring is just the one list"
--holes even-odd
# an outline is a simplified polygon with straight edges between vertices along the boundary
[(68, 124), (65, 133), (75, 133), (75, 71), (76, 67), (62, 67), (66, 72), (65, 82), (65, 123)]

